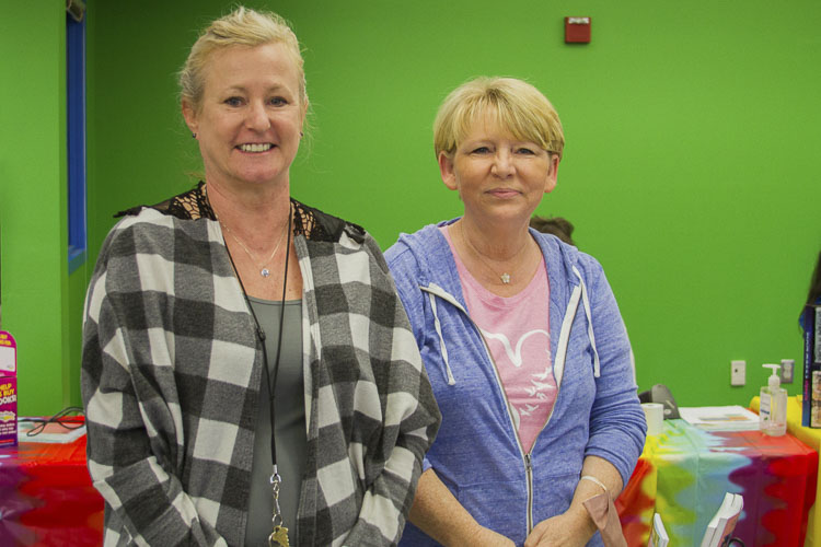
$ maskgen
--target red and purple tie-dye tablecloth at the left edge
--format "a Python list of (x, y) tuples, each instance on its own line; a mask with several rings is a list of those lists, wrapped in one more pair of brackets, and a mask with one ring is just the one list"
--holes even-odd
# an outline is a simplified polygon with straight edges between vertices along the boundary
[(102, 529), (85, 437), (0, 449), (0, 545), (99, 546)]

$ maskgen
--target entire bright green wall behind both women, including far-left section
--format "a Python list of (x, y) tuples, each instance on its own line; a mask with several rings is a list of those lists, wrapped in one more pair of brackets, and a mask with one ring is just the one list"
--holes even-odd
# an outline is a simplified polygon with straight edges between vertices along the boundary
[[(13, 150), (0, 163), (3, 325), (27, 341), (36, 364), (21, 372), (21, 397), (43, 412), (76, 396), (89, 276), (63, 269), (58, 3), (14, 8), (30, 25), (0, 37), (15, 51), (0, 74), (26, 83), (1, 86), (11, 124), (0, 135)], [(467, 78), (524, 78), (554, 102), (567, 137), (558, 187), (537, 212), (570, 219), (579, 246), (604, 265), (640, 387), (667, 383), (682, 405), (745, 405), (765, 380), (761, 363), (800, 362), (796, 317), (821, 242), (814, 0), (777, 10), (763, 0), (247, 4), (279, 11), (305, 47), (314, 127), (292, 168), (298, 198), (363, 224), (383, 247), (460, 214), (432, 154), (436, 108)], [(197, 31), (231, 3), (91, 5), (93, 260), (112, 213), (196, 181), (175, 72)], [(593, 18), (591, 44), (564, 44), (568, 15)], [(745, 387), (729, 386), (731, 359), (748, 361)], [(35, 370), (48, 372), (37, 376), (42, 395)]]

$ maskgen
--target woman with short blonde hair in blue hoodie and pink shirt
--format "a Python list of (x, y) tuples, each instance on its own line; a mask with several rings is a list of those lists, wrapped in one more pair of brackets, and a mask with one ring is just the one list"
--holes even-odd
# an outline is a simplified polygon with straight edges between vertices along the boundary
[(385, 253), (442, 412), (402, 545), (602, 545), (583, 502), (618, 496), (646, 424), (602, 267), (529, 229), (558, 115), (527, 82), (479, 78), (444, 100), (433, 142), (464, 214)]

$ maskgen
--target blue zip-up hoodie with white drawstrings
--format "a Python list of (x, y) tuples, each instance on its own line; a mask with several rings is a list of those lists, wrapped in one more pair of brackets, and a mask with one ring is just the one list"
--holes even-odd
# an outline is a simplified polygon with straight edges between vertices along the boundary
[[(626, 485), (646, 430), (627, 333), (601, 265), (553, 235), (531, 233), (547, 267), (558, 394), (528, 454), (438, 226), (402, 234), (385, 253), (442, 414), (425, 469), (481, 525), (517, 545), (569, 508), (585, 456), (613, 464)], [(438, 544), (408, 523), (401, 545)], [(589, 545), (601, 545), (598, 533)]]

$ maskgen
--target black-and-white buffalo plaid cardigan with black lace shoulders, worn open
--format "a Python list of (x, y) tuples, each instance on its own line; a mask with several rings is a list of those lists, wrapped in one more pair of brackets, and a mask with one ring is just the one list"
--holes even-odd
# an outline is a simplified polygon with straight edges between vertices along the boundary
[[(382, 254), (292, 201), (303, 279), (302, 545), (395, 545), (440, 416)], [(203, 185), (127, 211), (85, 302), (106, 545), (242, 545), (263, 348)]]

